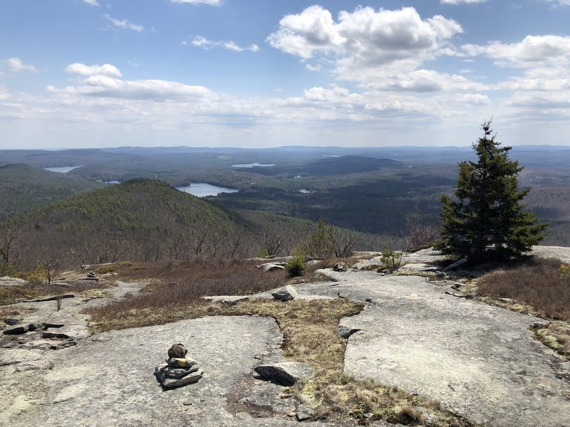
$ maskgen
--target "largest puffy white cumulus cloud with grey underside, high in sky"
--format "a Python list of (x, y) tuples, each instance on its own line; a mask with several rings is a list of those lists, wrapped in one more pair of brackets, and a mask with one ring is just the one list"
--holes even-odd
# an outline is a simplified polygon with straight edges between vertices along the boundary
[(424, 60), (453, 53), (446, 41), (462, 32), (452, 19), (422, 19), (412, 7), (359, 7), (341, 11), (335, 21), (330, 11), (310, 6), (301, 14), (284, 16), (279, 26), (267, 37), (271, 46), (302, 60), (332, 60), (340, 78), (356, 81), (379, 80), (386, 73), (413, 70)]

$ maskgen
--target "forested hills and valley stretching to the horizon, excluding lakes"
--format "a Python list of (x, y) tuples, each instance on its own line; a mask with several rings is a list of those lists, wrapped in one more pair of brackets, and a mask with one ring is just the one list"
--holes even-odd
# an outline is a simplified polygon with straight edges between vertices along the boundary
[[(0, 273), (288, 255), (319, 220), (354, 249), (410, 248), (412, 228), (432, 236), (439, 227), (440, 195), (452, 193), (457, 161), (470, 155), (448, 147), (0, 151)], [(531, 189), (527, 209), (551, 223), (544, 243), (570, 245), (570, 149), (514, 149), (513, 157)], [(234, 167), (243, 163), (273, 166)], [(63, 166), (78, 168), (44, 170)], [(239, 191), (197, 198), (175, 189), (192, 182)]]

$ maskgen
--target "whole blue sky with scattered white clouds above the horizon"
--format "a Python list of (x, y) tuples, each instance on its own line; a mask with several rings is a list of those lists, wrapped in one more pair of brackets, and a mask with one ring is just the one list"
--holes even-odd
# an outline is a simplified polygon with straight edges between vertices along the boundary
[(0, 149), (570, 145), (570, 0), (0, 0)]

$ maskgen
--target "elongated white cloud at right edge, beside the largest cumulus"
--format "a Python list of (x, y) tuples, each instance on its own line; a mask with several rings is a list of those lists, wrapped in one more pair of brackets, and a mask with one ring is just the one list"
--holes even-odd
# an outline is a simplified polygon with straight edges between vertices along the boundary
[(560, 65), (570, 59), (570, 36), (527, 36), (519, 43), (489, 43), (462, 46), (469, 56), (485, 55), (502, 67), (527, 68)]

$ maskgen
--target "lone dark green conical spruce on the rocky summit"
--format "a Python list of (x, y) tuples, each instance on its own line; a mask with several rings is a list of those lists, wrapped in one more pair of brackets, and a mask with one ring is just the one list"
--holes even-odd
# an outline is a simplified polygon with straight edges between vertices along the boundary
[(511, 147), (500, 147), (491, 121), (473, 144), (477, 162), (460, 162), (455, 199), (441, 196), (441, 238), (435, 248), (475, 262), (521, 258), (539, 243), (548, 224), (537, 223), (520, 202), (529, 189), (519, 190), (522, 167), (509, 160)]

